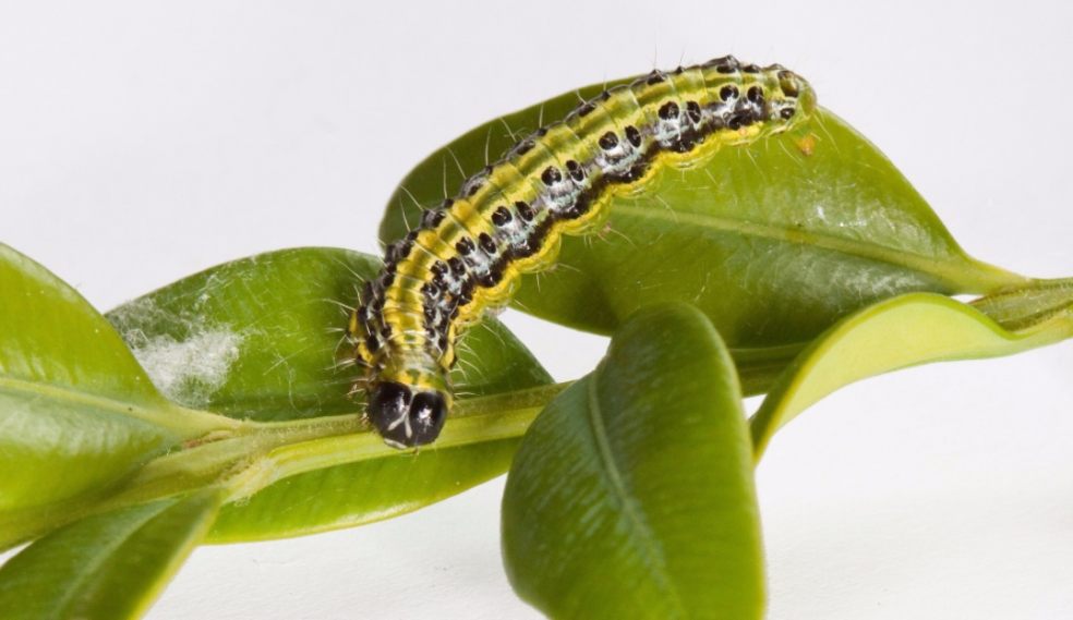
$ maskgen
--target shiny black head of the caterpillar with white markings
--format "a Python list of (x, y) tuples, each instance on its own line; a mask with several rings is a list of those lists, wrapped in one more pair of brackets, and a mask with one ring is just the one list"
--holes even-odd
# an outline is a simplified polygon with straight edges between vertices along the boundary
[(394, 381), (377, 384), (369, 398), (367, 415), (384, 441), (394, 448), (431, 443), (447, 420), (447, 398)]

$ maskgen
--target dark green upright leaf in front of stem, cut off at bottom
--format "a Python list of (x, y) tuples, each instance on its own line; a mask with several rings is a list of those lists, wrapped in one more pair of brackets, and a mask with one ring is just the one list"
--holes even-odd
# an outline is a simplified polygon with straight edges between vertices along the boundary
[(522, 440), (503, 498), (511, 584), (552, 618), (761, 618), (751, 455), (711, 324), (639, 312)]

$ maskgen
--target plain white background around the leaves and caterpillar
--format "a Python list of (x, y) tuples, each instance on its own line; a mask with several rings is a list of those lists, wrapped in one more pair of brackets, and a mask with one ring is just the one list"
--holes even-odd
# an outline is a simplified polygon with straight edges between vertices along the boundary
[[(880, 8), (880, 5), (882, 8)], [(1063, 2), (0, 3), (0, 239), (108, 308), (219, 262), (375, 251), (395, 183), (490, 118), (733, 52), (781, 62), (986, 260), (1073, 275)], [(601, 339), (508, 323), (559, 379)], [(1073, 347), (834, 394), (759, 470), (770, 617), (1073, 617)], [(502, 479), (415, 514), (197, 550), (149, 613), (538, 615)]]

